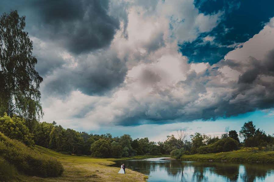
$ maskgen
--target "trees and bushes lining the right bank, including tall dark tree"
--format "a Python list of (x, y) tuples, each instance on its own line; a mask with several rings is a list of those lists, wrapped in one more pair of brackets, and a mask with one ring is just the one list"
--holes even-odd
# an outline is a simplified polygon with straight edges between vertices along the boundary
[[(184, 134), (184, 133), (183, 133)], [(191, 141), (185, 140), (183, 142), (182, 131), (178, 134), (179, 139), (174, 136), (168, 137), (168, 140), (173, 141), (174, 144), (181, 142), (183, 145), (174, 145), (174, 150), (171, 151), (171, 156), (180, 158), (183, 154), (196, 154), (196, 153), (219, 153), (237, 150), (239, 147), (258, 147), (258, 150), (273, 151), (274, 150), (274, 134), (266, 134), (264, 130), (259, 128), (256, 130), (252, 121), (244, 123), (239, 131), (240, 137), (244, 139), (240, 142), (236, 130), (230, 130), (226, 127), (225, 133), (221, 137), (207, 136), (201, 133), (190, 135)], [(184, 134), (185, 135), (185, 134)]]

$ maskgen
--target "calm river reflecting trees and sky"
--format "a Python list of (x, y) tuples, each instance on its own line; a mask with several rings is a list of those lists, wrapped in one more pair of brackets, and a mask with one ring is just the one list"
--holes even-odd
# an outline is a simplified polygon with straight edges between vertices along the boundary
[(126, 168), (148, 175), (148, 182), (274, 182), (273, 164), (189, 162), (163, 158), (115, 162), (111, 166), (120, 167), (124, 163)]

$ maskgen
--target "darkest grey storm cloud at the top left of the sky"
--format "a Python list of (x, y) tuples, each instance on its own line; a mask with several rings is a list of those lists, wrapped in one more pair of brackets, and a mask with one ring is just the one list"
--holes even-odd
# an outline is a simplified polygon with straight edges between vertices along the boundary
[(109, 15), (108, 0), (8, 2), (0, 10), (18, 9), (20, 15), (26, 15), (31, 35), (52, 40), (76, 54), (108, 46), (120, 26), (119, 17)]

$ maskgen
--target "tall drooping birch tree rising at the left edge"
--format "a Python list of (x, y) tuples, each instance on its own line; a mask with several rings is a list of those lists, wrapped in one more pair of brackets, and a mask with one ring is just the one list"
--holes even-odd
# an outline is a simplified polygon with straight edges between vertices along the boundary
[(24, 32), (25, 16), (17, 11), (4, 13), (0, 17), (0, 108), (12, 116), (26, 119), (33, 131), (37, 120), (43, 116), (39, 91), (43, 81), (34, 67), (37, 59), (33, 56), (33, 42)]

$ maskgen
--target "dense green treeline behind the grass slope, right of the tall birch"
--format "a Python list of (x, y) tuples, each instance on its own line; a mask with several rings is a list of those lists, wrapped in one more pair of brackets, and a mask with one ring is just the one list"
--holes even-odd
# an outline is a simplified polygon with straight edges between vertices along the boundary
[(169, 154), (162, 142), (152, 142), (148, 138), (132, 139), (128, 134), (112, 137), (106, 134), (88, 134), (61, 125), (42, 122), (34, 130), (34, 143), (56, 151), (66, 151), (77, 155), (93, 157), (130, 157), (136, 155)]

